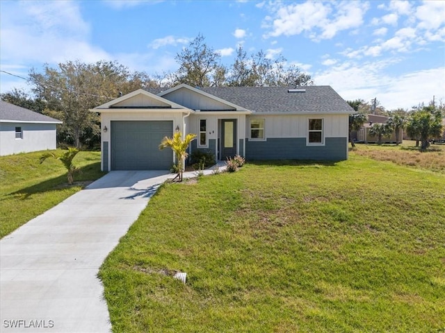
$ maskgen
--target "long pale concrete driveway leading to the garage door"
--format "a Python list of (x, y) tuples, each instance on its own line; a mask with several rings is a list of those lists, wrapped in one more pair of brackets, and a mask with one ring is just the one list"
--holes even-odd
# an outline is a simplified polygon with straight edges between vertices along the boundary
[(1, 239), (0, 332), (111, 332), (99, 266), (172, 177), (112, 171)]

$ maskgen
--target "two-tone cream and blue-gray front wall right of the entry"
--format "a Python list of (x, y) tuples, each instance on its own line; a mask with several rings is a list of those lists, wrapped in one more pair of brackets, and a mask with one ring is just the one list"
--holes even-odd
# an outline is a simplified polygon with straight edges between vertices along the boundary
[[(250, 139), (250, 119), (265, 119), (265, 140)], [(323, 119), (323, 145), (308, 145), (309, 119)], [(246, 120), (248, 160), (346, 160), (348, 114), (251, 115)]]

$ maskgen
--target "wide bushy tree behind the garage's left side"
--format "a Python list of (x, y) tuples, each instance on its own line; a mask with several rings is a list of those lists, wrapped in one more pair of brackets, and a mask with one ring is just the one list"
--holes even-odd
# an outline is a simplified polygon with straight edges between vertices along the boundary
[(63, 121), (59, 142), (76, 148), (100, 142), (100, 117), (90, 109), (115, 99), (120, 92), (156, 85), (145, 73), (131, 73), (117, 62), (106, 61), (68, 61), (57, 68), (44, 65), (42, 73), (31, 69), (29, 80), (36, 99), (46, 105), (44, 113)]

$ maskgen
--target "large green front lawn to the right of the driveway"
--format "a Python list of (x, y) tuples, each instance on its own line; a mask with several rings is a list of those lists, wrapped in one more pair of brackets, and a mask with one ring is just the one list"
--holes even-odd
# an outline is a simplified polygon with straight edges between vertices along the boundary
[(444, 174), (352, 152), (165, 184), (99, 276), (113, 332), (444, 332), (444, 239)]

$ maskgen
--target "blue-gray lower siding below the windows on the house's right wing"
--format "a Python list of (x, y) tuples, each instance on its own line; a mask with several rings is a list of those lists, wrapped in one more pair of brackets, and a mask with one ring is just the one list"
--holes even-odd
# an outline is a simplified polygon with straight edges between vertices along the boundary
[(246, 160), (333, 160), (347, 159), (348, 139), (327, 137), (325, 146), (307, 146), (306, 139), (273, 138), (245, 142)]

